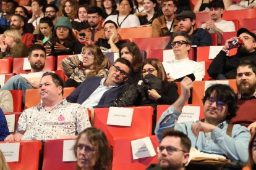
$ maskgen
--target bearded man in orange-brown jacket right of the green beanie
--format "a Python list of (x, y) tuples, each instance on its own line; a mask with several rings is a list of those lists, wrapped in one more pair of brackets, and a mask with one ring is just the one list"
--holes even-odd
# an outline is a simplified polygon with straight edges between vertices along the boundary
[(90, 7), (87, 10), (89, 28), (81, 30), (80, 33), (85, 33), (85, 36), (80, 36), (79, 41), (87, 41), (92, 44), (92, 41), (98, 41), (99, 38), (105, 38), (104, 28), (101, 26), (102, 10), (100, 7)]

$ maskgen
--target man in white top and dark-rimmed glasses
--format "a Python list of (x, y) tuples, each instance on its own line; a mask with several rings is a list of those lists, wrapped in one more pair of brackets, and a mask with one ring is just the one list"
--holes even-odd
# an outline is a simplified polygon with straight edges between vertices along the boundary
[(170, 81), (181, 81), (184, 76), (190, 75), (193, 80), (202, 80), (205, 75), (203, 62), (189, 60), (191, 39), (188, 34), (177, 31), (173, 34), (173, 53), (175, 59), (170, 62), (163, 62), (164, 70), (171, 77)]

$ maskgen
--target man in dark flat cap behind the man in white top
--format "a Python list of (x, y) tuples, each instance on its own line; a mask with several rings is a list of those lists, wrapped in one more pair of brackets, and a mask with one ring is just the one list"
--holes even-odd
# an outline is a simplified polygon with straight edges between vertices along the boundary
[[(197, 47), (200, 46), (211, 46), (211, 35), (208, 31), (202, 28), (195, 29), (195, 13), (190, 10), (185, 10), (178, 15), (176, 19), (179, 25), (179, 31), (189, 34), (192, 38), (192, 45)], [(168, 42), (166, 49), (171, 49), (171, 41)], [(196, 56), (196, 55), (195, 55)]]

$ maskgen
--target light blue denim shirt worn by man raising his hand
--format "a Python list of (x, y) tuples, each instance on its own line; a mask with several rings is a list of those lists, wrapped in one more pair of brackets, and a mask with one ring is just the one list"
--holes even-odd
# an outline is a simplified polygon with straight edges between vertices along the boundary
[(226, 134), (228, 123), (224, 121), (218, 124), (210, 133), (199, 132), (198, 137), (195, 137), (191, 125), (193, 121), (176, 124), (179, 118), (178, 111), (174, 107), (169, 107), (164, 111), (163, 115), (156, 124), (155, 134), (158, 141), (161, 140), (161, 134), (165, 129), (174, 128), (177, 131), (184, 132), (191, 140), (192, 147), (197, 148), (202, 152), (215, 153), (224, 155), (231, 161), (239, 160), (244, 163), (248, 160), (248, 146), (250, 141), (250, 132), (245, 126), (234, 124), (232, 137)]

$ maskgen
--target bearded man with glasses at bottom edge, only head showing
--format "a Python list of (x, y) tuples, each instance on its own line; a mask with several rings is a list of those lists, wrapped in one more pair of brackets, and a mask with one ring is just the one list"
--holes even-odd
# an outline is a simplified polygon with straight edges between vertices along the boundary
[(190, 139), (180, 131), (167, 130), (163, 132), (163, 139), (158, 150), (158, 164), (151, 164), (147, 170), (179, 169), (184, 170), (189, 160), (191, 148)]

